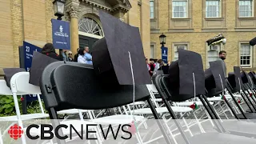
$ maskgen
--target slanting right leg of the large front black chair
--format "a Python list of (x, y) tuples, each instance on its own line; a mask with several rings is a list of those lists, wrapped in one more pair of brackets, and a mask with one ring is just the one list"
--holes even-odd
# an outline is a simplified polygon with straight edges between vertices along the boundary
[[(158, 115), (158, 112), (157, 112), (157, 110), (155, 110), (154, 105), (153, 105), (153, 103), (151, 102), (150, 98), (147, 99), (147, 102), (149, 103), (149, 106), (150, 106), (150, 109), (151, 109), (151, 111), (152, 111), (152, 113), (153, 113), (153, 115), (154, 115), (154, 118), (155, 118), (156, 121), (158, 122), (158, 126), (159, 126), (159, 128), (160, 128), (160, 130), (161, 130), (161, 132), (162, 132), (163, 137), (166, 139), (166, 142), (167, 142), (167, 143), (171, 143), (170, 138), (169, 138), (168, 135), (166, 134), (166, 130), (163, 128), (162, 123), (159, 122), (159, 120), (158, 120), (158, 119), (160, 119), (160, 118), (159, 118), (159, 115)], [(187, 144), (188, 144), (188, 143), (187, 143)]]

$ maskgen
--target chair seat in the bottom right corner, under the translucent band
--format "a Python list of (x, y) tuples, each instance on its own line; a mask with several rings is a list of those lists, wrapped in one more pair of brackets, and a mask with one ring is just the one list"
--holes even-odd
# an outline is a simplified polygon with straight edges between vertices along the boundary
[(191, 144), (254, 144), (256, 142), (256, 139), (254, 138), (246, 138), (233, 134), (222, 134), (214, 132), (197, 134), (194, 135), (194, 137), (188, 139)]

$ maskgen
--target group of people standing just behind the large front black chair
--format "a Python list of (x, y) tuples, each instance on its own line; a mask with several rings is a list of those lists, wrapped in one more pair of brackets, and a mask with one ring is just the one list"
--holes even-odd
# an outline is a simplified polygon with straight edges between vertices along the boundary
[(58, 55), (55, 51), (54, 45), (52, 43), (46, 43), (45, 46), (42, 47), (42, 54), (46, 54), (50, 58), (57, 59), (59, 61), (66, 61), (66, 62), (79, 62), (92, 65), (92, 56), (89, 52), (89, 47), (83, 47), (77, 49), (77, 54), (73, 54), (71, 51), (66, 54), (67, 50), (62, 50), (62, 55)]

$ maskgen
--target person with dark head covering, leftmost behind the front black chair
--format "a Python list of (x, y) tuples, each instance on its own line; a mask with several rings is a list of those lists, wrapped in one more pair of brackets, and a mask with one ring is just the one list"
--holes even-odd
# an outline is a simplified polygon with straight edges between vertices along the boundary
[(59, 57), (59, 55), (56, 54), (55, 49), (54, 49), (54, 45), (52, 43), (46, 43), (46, 45), (42, 47), (41, 53), (46, 54), (50, 58), (54, 58), (54, 59), (57, 59), (59, 61), (62, 61), (62, 59)]

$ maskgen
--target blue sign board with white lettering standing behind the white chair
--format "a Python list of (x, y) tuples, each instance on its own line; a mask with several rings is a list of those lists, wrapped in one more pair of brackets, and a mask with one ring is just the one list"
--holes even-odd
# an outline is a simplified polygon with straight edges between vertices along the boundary
[[(41, 52), (41, 48), (38, 46), (34, 46), (30, 44), (29, 42), (23, 41), (23, 52), (24, 52), (24, 64), (25, 64), (25, 70), (30, 70), (30, 67), (32, 65), (32, 58), (33, 58), (33, 52), (38, 51)], [(26, 95), (26, 101), (31, 102), (34, 100), (38, 100), (36, 94), (28, 94)]]

